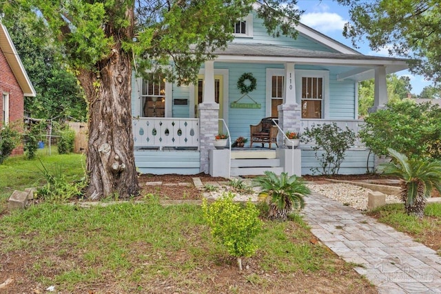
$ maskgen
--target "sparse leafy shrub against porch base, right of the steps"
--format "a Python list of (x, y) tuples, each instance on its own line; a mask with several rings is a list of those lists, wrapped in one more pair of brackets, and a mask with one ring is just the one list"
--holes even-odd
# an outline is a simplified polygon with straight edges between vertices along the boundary
[[(353, 145), (356, 140), (356, 134), (346, 127), (340, 129), (336, 123), (331, 125), (317, 125), (311, 129), (307, 128), (302, 134), (306, 143), (315, 142), (312, 149), (316, 151), (316, 158), (321, 169), (315, 167), (311, 169), (325, 175), (338, 174), (340, 165), (345, 159), (345, 152)], [(321, 154), (319, 155), (319, 151)]]

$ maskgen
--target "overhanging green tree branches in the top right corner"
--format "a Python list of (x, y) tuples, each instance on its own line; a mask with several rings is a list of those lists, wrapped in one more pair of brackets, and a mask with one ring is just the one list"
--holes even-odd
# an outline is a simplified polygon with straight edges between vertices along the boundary
[(441, 6), (439, 0), (336, 0), (349, 6), (343, 34), (353, 45), (363, 37), (373, 50), (410, 57), (411, 71), (441, 82)]

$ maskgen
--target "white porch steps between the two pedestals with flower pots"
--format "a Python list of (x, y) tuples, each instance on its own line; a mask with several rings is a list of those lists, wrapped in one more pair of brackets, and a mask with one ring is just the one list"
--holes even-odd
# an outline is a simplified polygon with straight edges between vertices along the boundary
[(283, 172), (275, 150), (232, 151), (231, 176), (260, 176), (265, 171)]

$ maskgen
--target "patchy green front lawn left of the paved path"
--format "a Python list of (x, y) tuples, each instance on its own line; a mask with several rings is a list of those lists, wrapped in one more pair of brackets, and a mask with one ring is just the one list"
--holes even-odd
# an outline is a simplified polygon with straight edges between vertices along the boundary
[[(39, 150), (46, 169), (83, 177), (84, 157)], [(298, 217), (265, 221), (258, 251), (236, 259), (216, 245), (198, 206), (80, 208), (43, 202), (6, 210), (14, 189), (44, 183), (39, 160), (0, 165), (0, 284), (8, 293), (376, 293), (353, 264), (316, 242)], [(0, 289), (0, 291), (2, 291)]]

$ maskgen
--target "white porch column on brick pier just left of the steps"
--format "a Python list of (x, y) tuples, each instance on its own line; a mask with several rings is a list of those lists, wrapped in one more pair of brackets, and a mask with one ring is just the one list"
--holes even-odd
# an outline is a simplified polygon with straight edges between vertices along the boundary
[(214, 136), (218, 133), (219, 105), (214, 101), (214, 61), (205, 61), (203, 101), (198, 105), (200, 171), (209, 173), (209, 149), (214, 149)]

